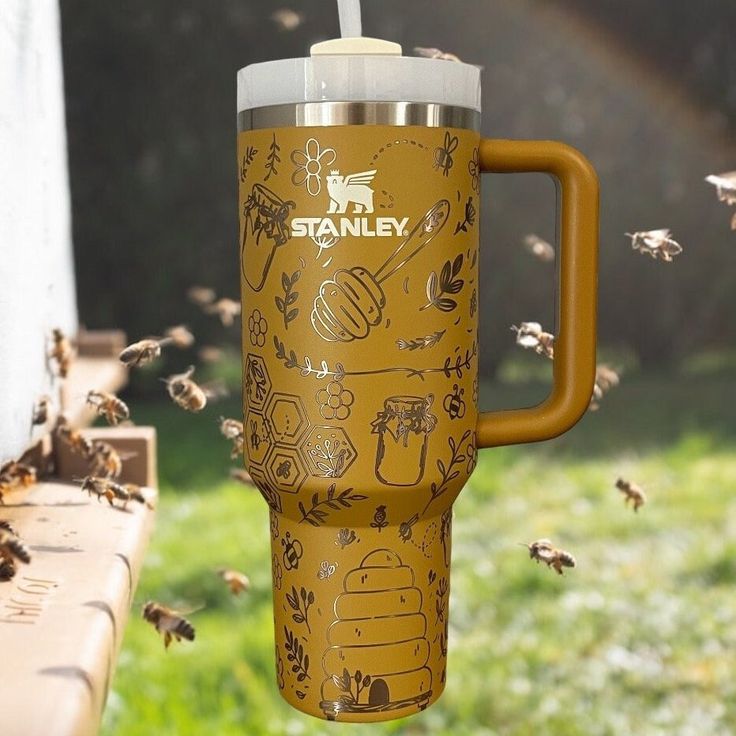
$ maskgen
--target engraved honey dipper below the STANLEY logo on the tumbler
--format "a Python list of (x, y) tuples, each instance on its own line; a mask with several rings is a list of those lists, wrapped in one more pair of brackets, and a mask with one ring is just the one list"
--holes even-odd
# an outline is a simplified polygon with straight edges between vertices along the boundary
[(442, 230), (450, 203), (441, 199), (399, 243), (388, 260), (371, 273), (363, 266), (341, 268), (324, 281), (314, 299), (312, 327), (329, 342), (351, 342), (368, 337), (380, 324), (386, 295), (381, 284), (393, 276)]

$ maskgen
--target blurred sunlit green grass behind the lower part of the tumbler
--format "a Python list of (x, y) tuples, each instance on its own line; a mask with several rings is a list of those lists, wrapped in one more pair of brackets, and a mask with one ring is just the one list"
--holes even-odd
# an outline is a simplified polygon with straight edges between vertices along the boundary
[[(269, 533), (257, 492), (227, 479), (219, 413), (133, 407), (159, 428), (161, 502), (137, 600), (204, 603), (197, 641), (161, 641), (134, 612), (105, 736), (736, 732), (736, 417), (733, 376), (632, 377), (553, 442), (482, 452), (456, 505), (447, 689), (386, 725), (326, 724), (274, 680)], [(539, 385), (487, 405), (534, 403)], [(649, 503), (626, 509), (618, 475)], [(549, 536), (558, 577), (517, 542)], [(233, 599), (213, 571), (244, 570)]]

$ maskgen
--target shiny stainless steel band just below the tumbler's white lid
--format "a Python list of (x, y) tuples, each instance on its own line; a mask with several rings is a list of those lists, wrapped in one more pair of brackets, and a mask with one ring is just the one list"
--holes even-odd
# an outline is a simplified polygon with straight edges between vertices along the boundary
[(335, 125), (421, 125), (480, 130), (480, 112), (434, 102), (298, 102), (243, 110), (238, 132)]

